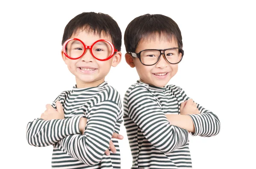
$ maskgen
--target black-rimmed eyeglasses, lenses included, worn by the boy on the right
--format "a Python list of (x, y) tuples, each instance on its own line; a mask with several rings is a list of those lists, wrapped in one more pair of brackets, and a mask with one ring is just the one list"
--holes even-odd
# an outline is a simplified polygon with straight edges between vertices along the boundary
[[(162, 53), (163, 51), (163, 53)], [(180, 63), (184, 55), (184, 51), (181, 48), (168, 48), (168, 49), (146, 49), (139, 53), (128, 52), (132, 57), (137, 57), (140, 62), (145, 66), (152, 66), (156, 64), (161, 55), (163, 54), (166, 60), (171, 64)], [(181, 56), (180, 56), (181, 53)]]

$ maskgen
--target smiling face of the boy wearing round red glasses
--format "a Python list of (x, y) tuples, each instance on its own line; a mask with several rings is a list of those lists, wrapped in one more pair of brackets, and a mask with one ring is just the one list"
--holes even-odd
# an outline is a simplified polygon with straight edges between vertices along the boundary
[[(100, 39), (105, 39), (112, 43), (110, 36), (103, 32), (101, 35), (97, 35), (94, 32), (89, 32), (88, 29), (80, 29), (70, 38), (80, 39), (86, 46), (91, 46)], [(95, 52), (98, 51), (99, 49), (95, 50)], [(69, 71), (75, 75), (78, 88), (99, 86), (105, 81), (105, 76), (110, 71), (111, 66), (117, 66), (122, 56), (121, 52), (116, 52), (111, 59), (100, 61), (93, 57), (89, 49), (85, 51), (82, 57), (76, 60), (66, 57), (63, 51), (61, 51), (61, 54)]]

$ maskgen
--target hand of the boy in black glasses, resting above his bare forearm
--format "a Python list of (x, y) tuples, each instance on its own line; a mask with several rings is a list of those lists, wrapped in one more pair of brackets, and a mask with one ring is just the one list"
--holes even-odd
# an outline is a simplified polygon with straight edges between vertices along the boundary
[(197, 103), (192, 99), (189, 99), (180, 104), (180, 115), (191, 114), (199, 114), (199, 110), (197, 108)]

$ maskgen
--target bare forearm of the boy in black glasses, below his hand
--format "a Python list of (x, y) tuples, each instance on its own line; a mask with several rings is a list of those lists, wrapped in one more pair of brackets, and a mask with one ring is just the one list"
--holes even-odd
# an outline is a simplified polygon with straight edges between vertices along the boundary
[(188, 115), (167, 114), (166, 117), (170, 125), (180, 127), (192, 133), (195, 132), (193, 120)]

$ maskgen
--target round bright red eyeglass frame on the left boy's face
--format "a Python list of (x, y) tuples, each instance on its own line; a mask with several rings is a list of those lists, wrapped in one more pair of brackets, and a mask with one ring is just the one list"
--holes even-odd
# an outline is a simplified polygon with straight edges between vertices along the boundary
[[(71, 40), (78, 40), (78, 41), (81, 42), (82, 45), (84, 46), (84, 52), (83, 52), (83, 54), (81, 54), (80, 57), (73, 58), (73, 57), (70, 57), (70, 56), (67, 54), (67, 51), (66, 51), (67, 43), (69, 43)], [(107, 42), (107, 43), (111, 46), (111, 49), (112, 49), (111, 54), (110, 54), (109, 57), (107, 57), (106, 59), (99, 59), (99, 58), (97, 58), (97, 57), (95, 57), (95, 56), (93, 55), (92, 47), (93, 47), (96, 43), (101, 42), (101, 41)], [(70, 38), (70, 39), (66, 40), (66, 41), (63, 43), (63, 46), (62, 46), (62, 50), (63, 50), (64, 55), (65, 55), (67, 58), (73, 59), (73, 60), (76, 60), (76, 59), (79, 59), (79, 58), (83, 57), (84, 54), (85, 54), (85, 52), (86, 52), (86, 49), (90, 49), (90, 53), (92, 54), (92, 56), (93, 56), (95, 59), (100, 60), (100, 61), (109, 60), (109, 59), (111, 59), (111, 57), (113, 57), (113, 55), (114, 55), (116, 52), (118, 52), (118, 50), (115, 49), (113, 43), (111, 43), (109, 40), (105, 40), (105, 39), (96, 40), (91, 46), (86, 46), (86, 45), (83, 43), (83, 41), (81, 41), (80, 39), (78, 39), (78, 38)]]

